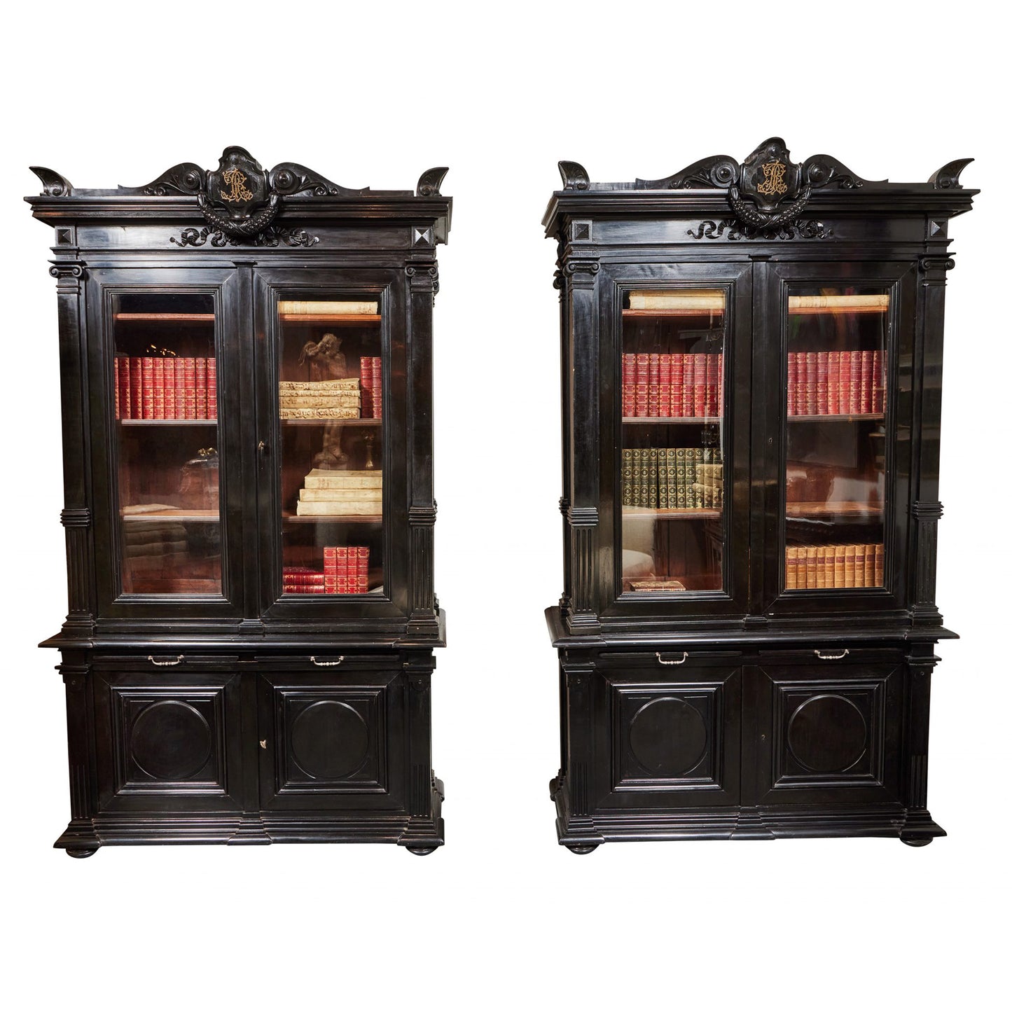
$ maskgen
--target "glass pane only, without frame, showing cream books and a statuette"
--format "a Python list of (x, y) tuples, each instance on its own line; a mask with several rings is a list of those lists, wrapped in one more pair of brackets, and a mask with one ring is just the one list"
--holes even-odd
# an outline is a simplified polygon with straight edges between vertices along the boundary
[(383, 339), (375, 296), (281, 300), (284, 594), (383, 593)]

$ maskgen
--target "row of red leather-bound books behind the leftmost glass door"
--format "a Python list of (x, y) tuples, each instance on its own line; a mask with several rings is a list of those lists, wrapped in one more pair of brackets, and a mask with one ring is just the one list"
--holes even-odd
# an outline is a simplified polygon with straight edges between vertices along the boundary
[(214, 358), (116, 355), (112, 359), (116, 418), (180, 421), (218, 418)]

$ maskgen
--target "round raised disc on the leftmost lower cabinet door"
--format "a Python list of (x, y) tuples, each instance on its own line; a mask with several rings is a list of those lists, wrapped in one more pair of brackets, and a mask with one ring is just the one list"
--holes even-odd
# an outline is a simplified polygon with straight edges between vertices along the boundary
[(179, 699), (153, 702), (131, 729), (134, 762), (156, 780), (188, 780), (210, 757), (210, 728), (203, 715)]

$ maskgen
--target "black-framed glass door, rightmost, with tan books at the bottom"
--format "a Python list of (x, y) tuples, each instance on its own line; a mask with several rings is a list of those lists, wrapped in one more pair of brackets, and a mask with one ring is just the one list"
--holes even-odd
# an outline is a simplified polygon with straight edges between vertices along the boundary
[(787, 277), (779, 286), (776, 583), (803, 602), (813, 594), (884, 598), (897, 571), (895, 495), (909, 459), (893, 436), (898, 386), (890, 377), (903, 354), (904, 289), (873, 273), (836, 265), (835, 276)]

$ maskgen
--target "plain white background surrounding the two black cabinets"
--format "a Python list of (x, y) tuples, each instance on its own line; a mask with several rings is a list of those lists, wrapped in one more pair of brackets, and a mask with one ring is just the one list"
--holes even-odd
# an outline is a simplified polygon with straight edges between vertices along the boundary
[[(988, 3), (29, 6), (4, 15), (5, 910), (13, 1009), (942, 1009), (1006, 954), (1007, 55)], [(869, 179), (975, 156), (950, 229), (929, 804), (887, 840), (556, 843), (562, 587), (556, 162), (658, 178), (780, 135)], [(46, 165), (138, 185), (231, 144), (411, 188), (449, 165), (436, 301), (434, 676), (447, 845), (109, 848), (69, 860)], [(992, 522), (988, 522), (991, 520)]]

